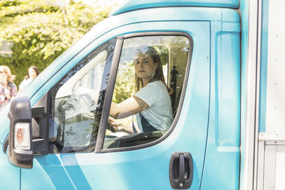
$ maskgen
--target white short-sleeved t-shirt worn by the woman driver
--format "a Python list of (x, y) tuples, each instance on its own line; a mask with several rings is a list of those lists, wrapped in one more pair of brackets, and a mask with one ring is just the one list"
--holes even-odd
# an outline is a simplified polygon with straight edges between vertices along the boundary
[[(162, 81), (157, 80), (148, 83), (144, 88), (141, 88), (138, 93), (135, 93), (135, 96), (139, 97), (150, 106), (140, 113), (152, 127), (161, 131), (170, 128), (173, 122), (171, 100), (167, 88)], [(135, 116), (138, 120), (138, 127), (142, 132), (139, 113)]]

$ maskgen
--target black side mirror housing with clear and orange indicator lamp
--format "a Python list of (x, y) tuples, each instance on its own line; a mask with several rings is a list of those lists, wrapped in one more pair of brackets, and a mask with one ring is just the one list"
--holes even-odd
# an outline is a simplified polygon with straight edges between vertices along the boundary
[(28, 97), (16, 97), (8, 113), (10, 119), (9, 162), (16, 167), (33, 167), (31, 104)]

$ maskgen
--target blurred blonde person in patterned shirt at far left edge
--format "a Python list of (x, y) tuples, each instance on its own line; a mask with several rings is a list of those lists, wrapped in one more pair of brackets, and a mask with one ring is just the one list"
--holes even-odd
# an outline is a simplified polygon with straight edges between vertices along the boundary
[(0, 110), (18, 95), (15, 78), (8, 66), (0, 65)]

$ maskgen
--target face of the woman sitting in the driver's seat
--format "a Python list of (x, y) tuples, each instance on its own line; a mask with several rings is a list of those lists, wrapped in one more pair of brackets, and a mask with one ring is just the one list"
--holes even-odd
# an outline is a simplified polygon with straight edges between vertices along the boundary
[(157, 69), (157, 64), (153, 63), (152, 57), (147, 53), (135, 54), (135, 74), (142, 80), (151, 80), (152, 75)]

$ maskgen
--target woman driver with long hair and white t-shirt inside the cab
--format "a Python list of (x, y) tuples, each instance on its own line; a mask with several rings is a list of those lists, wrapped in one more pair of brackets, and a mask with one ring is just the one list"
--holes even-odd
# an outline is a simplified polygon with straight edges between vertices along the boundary
[(116, 119), (136, 115), (141, 132), (168, 130), (173, 115), (160, 56), (151, 46), (140, 46), (134, 55), (137, 92), (123, 102), (112, 102), (110, 115)]

